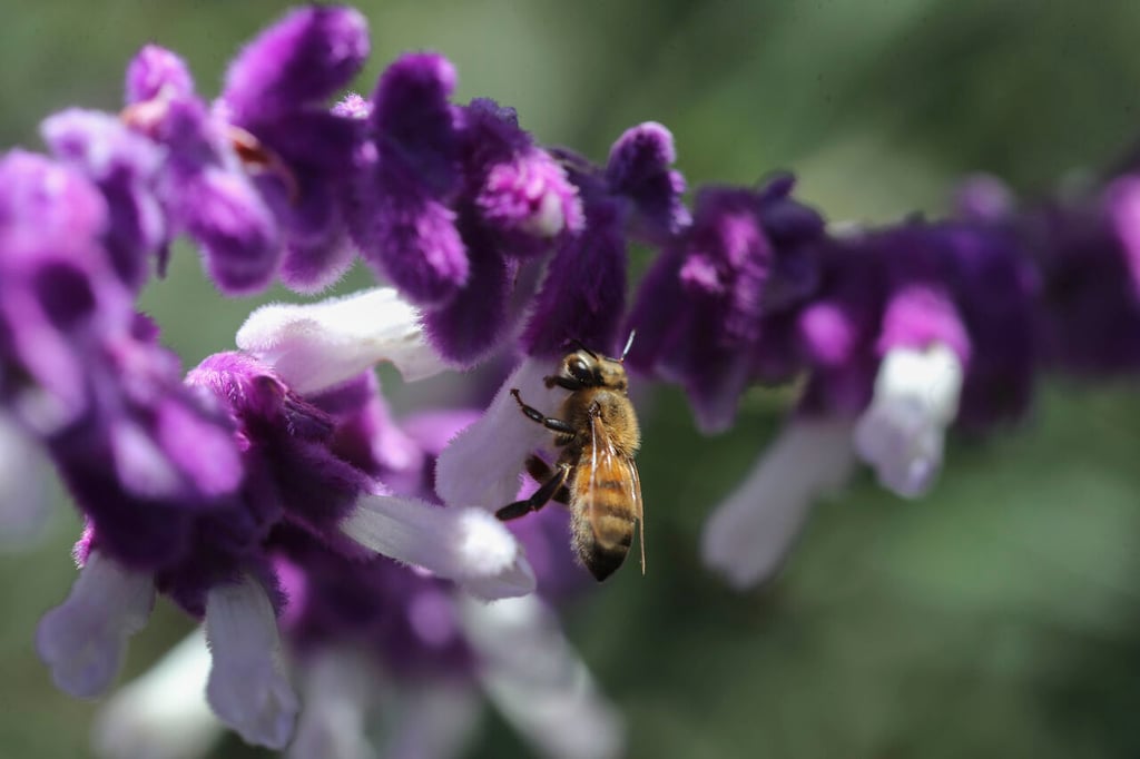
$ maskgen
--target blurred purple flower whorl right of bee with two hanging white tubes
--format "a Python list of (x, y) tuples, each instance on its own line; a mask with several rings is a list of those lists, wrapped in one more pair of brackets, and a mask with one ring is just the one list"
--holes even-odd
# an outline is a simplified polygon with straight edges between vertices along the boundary
[(915, 497), (942, 466), (950, 425), (1021, 414), (1035, 368), (1021, 251), (988, 219), (911, 221), (815, 248), (819, 279), (793, 321), (809, 372), (797, 417), (715, 509), (706, 563), (739, 587), (763, 581), (853, 454)]

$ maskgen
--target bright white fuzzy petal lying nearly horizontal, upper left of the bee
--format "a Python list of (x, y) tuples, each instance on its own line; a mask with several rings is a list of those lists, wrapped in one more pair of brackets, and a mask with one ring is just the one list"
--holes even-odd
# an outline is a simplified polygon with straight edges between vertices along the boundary
[(391, 287), (262, 305), (237, 330), (237, 346), (302, 395), (343, 384), (381, 361), (409, 382), (448, 368), (429, 345), (420, 311)]

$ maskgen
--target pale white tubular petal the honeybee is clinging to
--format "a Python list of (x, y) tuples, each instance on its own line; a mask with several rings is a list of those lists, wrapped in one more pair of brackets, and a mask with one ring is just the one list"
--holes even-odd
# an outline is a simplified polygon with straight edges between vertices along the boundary
[(549, 361), (523, 360), (499, 387), (487, 413), (443, 449), (435, 465), (435, 491), (443, 503), (494, 512), (515, 499), (527, 457), (548, 447), (554, 436), (523, 416), (511, 389), (518, 387), (526, 403), (557, 416), (567, 391), (543, 384), (543, 377), (555, 369)]

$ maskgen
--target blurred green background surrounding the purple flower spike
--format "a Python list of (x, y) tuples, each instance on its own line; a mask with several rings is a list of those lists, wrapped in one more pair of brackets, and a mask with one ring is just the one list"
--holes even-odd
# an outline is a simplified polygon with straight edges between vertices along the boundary
[[(156, 41), (214, 95), (283, 3), (11, 3), (0, 144), (38, 147), (68, 105), (115, 109)], [(692, 185), (775, 169), (832, 220), (938, 213), (961, 176), (1026, 193), (1094, 171), (1140, 138), (1140, 3), (1015, 0), (365, 2), (370, 91), (399, 51), (456, 64), (459, 97), (518, 107), (539, 140), (604, 158), (644, 120), (674, 132)], [(348, 286), (367, 276), (357, 271)], [(280, 296), (280, 293), (274, 295)], [(233, 345), (253, 301), (223, 301), (196, 256), (144, 305), (188, 365)], [(401, 409), (434, 391), (393, 387)], [(785, 571), (734, 594), (697, 536), (779, 427), (787, 395), (746, 398), (698, 435), (683, 395), (644, 411), (650, 572), (567, 610), (569, 635), (629, 721), (633, 757), (1140, 756), (1140, 398), (1051, 382), (1032, 418), (951, 446), (936, 492), (905, 503), (862, 473), (820, 505)], [(87, 756), (89, 703), (35, 658), (40, 614), (74, 578), (59, 506), (42, 542), (0, 555), (0, 756)], [(161, 603), (127, 675), (187, 629)], [(472, 757), (529, 749), (488, 711)], [(217, 757), (266, 756), (235, 740)]]

